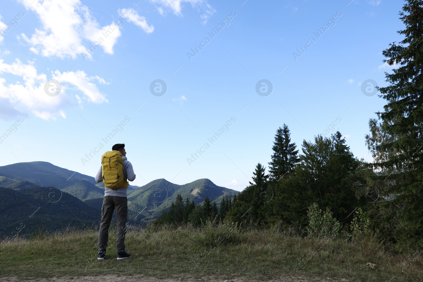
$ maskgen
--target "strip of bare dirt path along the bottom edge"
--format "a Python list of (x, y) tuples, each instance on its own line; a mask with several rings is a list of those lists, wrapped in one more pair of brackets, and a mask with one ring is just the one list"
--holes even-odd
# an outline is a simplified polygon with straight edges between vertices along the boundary
[(21, 282), (21, 281), (36, 281), (36, 282), (347, 282), (346, 279), (310, 279), (305, 277), (293, 277), (287, 275), (286, 277), (281, 277), (280, 279), (271, 279), (271, 280), (254, 280), (249, 278), (233, 278), (233, 279), (216, 279), (212, 277), (203, 277), (201, 279), (194, 278), (155, 278), (155, 277), (146, 277), (143, 275), (133, 275), (133, 276), (118, 276), (116, 274), (102, 275), (102, 276), (81, 276), (75, 277), (73, 280), (66, 277), (55, 277), (55, 278), (23, 278), (16, 276), (3, 276), (0, 277), (0, 282)]

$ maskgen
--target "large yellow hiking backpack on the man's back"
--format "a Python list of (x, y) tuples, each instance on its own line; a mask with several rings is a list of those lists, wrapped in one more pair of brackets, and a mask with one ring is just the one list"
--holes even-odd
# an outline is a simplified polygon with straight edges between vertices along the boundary
[(124, 159), (121, 152), (107, 151), (103, 154), (102, 174), (107, 188), (128, 188), (129, 182), (124, 180)]

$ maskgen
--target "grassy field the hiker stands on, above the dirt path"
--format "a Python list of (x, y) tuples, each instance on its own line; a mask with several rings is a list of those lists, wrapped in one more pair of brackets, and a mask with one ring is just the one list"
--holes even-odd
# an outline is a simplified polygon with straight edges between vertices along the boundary
[[(97, 260), (94, 230), (56, 233), (44, 238), (16, 238), (0, 248), (0, 275), (69, 277), (135, 275), (166, 277), (244, 277), (271, 280), (332, 277), (349, 281), (421, 282), (422, 258), (374, 237), (303, 238), (293, 230), (246, 230), (235, 225), (129, 229), (126, 250), (132, 258), (116, 260), (116, 235), (109, 235), (106, 260)], [(374, 268), (367, 263), (374, 263)], [(226, 279), (228, 279), (226, 278)], [(184, 279), (181, 279), (183, 281)]]

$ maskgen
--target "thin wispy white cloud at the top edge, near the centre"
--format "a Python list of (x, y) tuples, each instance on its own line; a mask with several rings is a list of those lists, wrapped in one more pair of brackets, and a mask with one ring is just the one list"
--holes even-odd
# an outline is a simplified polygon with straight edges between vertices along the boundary
[(203, 20), (203, 24), (216, 12), (206, 0), (150, 0), (152, 3), (156, 3), (160, 6), (157, 7), (157, 10), (160, 14), (165, 15), (165, 8), (172, 10), (173, 14), (181, 16), (182, 8), (184, 8), (183, 3), (190, 3), (193, 8), (197, 8), (200, 13), (200, 18)]

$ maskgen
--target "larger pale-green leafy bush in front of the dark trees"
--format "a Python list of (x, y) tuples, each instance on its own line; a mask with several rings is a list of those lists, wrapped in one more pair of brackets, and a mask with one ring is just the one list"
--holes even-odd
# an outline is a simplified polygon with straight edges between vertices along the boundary
[(307, 231), (310, 237), (335, 237), (338, 235), (341, 224), (333, 218), (333, 214), (326, 208), (323, 212), (319, 205), (313, 203), (308, 207), (308, 227)]

